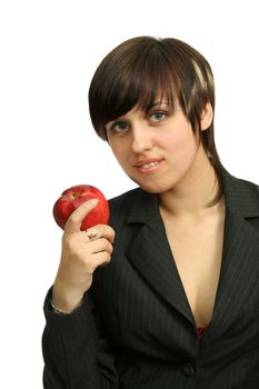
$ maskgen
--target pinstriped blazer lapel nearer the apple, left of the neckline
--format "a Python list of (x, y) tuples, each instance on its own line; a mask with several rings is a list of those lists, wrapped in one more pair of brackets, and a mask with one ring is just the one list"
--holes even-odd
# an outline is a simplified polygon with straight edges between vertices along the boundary
[(142, 192), (141, 201), (132, 206), (128, 222), (142, 225), (128, 247), (128, 260), (165, 301), (193, 323), (159, 213), (158, 197)]

